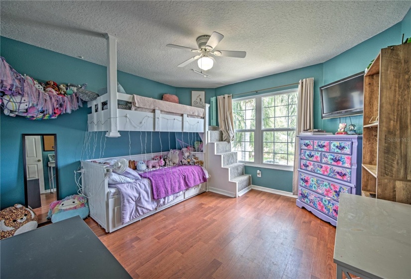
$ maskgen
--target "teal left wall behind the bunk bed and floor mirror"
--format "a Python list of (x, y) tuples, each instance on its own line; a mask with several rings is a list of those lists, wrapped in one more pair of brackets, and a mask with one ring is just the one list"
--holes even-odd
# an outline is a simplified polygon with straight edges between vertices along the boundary
[[(88, 83), (88, 89), (97, 91), (107, 87), (107, 68), (64, 54), (35, 47), (26, 43), (0, 37), (0, 55), (19, 73), (27, 74), (40, 80), (54, 80), (57, 83)], [(161, 99), (162, 94), (175, 94), (175, 88), (162, 83), (137, 77), (124, 72), (118, 72), (118, 80), (129, 94), (136, 93), (141, 96)], [(0, 115), (0, 204), (1, 208), (15, 203), (24, 204), (23, 180), (23, 154), (21, 134), (57, 134), (57, 158), (59, 167), (60, 196), (74, 194), (76, 184), (74, 170), (80, 165), (84, 137), (86, 135), (87, 103), (84, 107), (71, 114), (64, 114), (57, 119), (30, 121), (23, 117), (5, 116), (1, 110)], [(129, 133), (120, 132), (120, 138), (106, 138), (102, 132), (94, 133), (91, 140), (92, 149), (87, 151), (84, 158), (91, 158), (96, 142), (94, 157), (98, 158), (100, 140), (102, 146), (106, 140), (105, 157), (129, 154)], [(151, 134), (147, 133), (147, 142), (151, 142)], [(168, 133), (153, 134), (153, 151), (169, 148)], [(141, 153), (140, 136), (145, 142), (145, 133), (131, 132), (131, 153)], [(172, 139), (170, 146), (175, 148), (175, 135), (170, 133)], [(166, 144), (164, 144), (164, 142)], [(146, 146), (147, 152), (150, 146)], [(47, 178), (48, 176), (46, 176)]]

